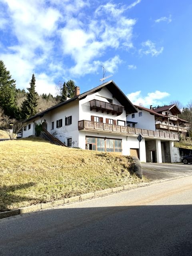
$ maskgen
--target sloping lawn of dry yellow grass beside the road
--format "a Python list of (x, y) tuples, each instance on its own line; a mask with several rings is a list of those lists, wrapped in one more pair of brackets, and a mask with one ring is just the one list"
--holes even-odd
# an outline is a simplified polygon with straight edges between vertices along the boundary
[(129, 157), (40, 138), (0, 142), (0, 163), (0, 211), (141, 182)]

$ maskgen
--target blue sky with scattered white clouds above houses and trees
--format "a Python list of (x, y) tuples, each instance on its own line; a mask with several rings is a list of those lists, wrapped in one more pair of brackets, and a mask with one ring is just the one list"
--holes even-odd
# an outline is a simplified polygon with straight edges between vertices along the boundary
[(0, 59), (40, 94), (69, 79), (90, 90), (103, 65), (134, 104), (186, 105), (191, 48), (191, 0), (0, 0)]

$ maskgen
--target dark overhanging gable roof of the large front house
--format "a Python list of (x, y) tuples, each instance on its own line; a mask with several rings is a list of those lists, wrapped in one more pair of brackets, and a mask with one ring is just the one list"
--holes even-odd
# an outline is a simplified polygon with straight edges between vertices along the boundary
[(130, 100), (127, 98), (127, 96), (122, 92), (122, 90), (120, 90), (120, 88), (115, 84), (115, 82), (113, 80), (110, 80), (104, 84), (101, 84), (91, 90), (88, 90), (87, 92), (84, 92), (82, 94), (79, 94), (69, 100), (66, 100), (64, 102), (61, 102), (57, 105), (52, 106), (51, 108), (48, 108), (38, 114), (36, 114), (35, 116), (31, 116), (30, 118), (28, 118), (26, 121), (30, 121), (36, 117), (43, 117), (44, 114), (47, 114), (48, 112), (50, 112), (51, 110), (54, 110), (56, 108), (60, 108), (61, 106), (64, 106), (72, 101), (75, 100), (81, 100), (83, 98), (85, 98), (88, 94), (90, 93), (94, 93), (97, 91), (100, 91), (103, 87), (106, 87), (111, 93), (112, 96), (115, 97), (118, 102), (120, 102), (120, 104), (122, 104), (122, 106), (124, 106), (124, 109), (126, 110), (126, 114), (132, 114), (132, 113), (136, 113), (137, 110), (134, 107), (134, 105), (130, 102)]

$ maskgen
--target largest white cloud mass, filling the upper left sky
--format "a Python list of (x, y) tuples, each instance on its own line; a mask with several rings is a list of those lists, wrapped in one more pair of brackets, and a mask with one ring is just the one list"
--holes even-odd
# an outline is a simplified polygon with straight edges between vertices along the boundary
[[(0, 59), (17, 87), (27, 88), (34, 73), (44, 93), (53, 92), (57, 76), (84, 76), (97, 72), (100, 64), (116, 72), (122, 63), (116, 51), (133, 48), (136, 19), (125, 11), (140, 1), (109, 2), (93, 10), (89, 0), (3, 0), (0, 29), (6, 25), (11, 38), (1, 40)], [(40, 86), (37, 90), (41, 93)]]

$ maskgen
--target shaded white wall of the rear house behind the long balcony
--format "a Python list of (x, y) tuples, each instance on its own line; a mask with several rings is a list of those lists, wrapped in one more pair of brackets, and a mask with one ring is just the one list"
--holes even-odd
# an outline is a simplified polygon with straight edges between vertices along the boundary
[[(145, 110), (140, 110), (138, 109), (138, 113), (134, 113), (135, 117), (132, 118), (132, 114), (129, 114), (126, 117), (127, 121), (131, 122), (137, 122), (135, 124), (136, 128), (142, 128), (142, 129), (147, 129), (147, 130), (156, 130), (155, 128), (155, 116), (151, 115), (149, 112)], [(142, 116), (139, 116), (139, 112), (142, 112)]]

